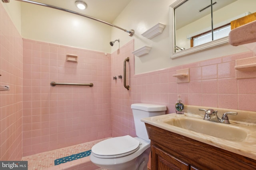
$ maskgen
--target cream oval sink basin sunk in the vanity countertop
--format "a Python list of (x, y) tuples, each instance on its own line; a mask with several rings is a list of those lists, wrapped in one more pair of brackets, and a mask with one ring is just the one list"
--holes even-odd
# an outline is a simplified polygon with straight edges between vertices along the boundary
[(173, 117), (164, 123), (229, 141), (242, 142), (248, 135), (244, 128), (237, 125), (216, 123), (194, 117)]

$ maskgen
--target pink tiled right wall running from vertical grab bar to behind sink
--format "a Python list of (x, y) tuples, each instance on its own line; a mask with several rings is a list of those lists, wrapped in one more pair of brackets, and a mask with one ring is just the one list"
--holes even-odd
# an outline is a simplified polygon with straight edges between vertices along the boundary
[[(111, 57), (111, 76), (123, 74), (124, 59), (130, 57), (127, 84), (131, 87), (128, 91), (122, 84), (123, 80), (112, 80), (113, 137), (136, 136), (131, 104), (166, 105), (166, 113), (174, 113), (178, 94), (187, 105), (256, 111), (256, 78), (237, 80), (234, 69), (236, 59), (252, 57), (252, 52), (134, 75), (133, 47), (131, 41)], [(172, 75), (183, 68), (190, 69), (190, 82), (177, 84)]]

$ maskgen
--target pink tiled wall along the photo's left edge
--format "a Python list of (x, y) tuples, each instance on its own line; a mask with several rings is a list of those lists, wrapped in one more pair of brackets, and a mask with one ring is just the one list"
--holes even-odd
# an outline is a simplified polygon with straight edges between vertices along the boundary
[(0, 3), (0, 160), (22, 158), (22, 38)]

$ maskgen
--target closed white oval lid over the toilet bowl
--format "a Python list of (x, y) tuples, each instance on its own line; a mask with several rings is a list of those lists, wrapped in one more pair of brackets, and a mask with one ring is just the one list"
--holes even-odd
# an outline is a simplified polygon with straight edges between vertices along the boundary
[(136, 152), (140, 141), (126, 135), (106, 139), (92, 147), (92, 154), (98, 158), (118, 158)]

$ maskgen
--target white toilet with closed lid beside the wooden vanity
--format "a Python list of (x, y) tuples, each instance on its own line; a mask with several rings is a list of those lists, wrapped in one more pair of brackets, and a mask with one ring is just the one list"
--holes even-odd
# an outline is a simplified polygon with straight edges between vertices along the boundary
[(132, 104), (136, 135), (114, 137), (94, 145), (91, 161), (108, 170), (147, 170), (150, 153), (150, 139), (141, 118), (163, 115), (166, 106), (154, 104)]

